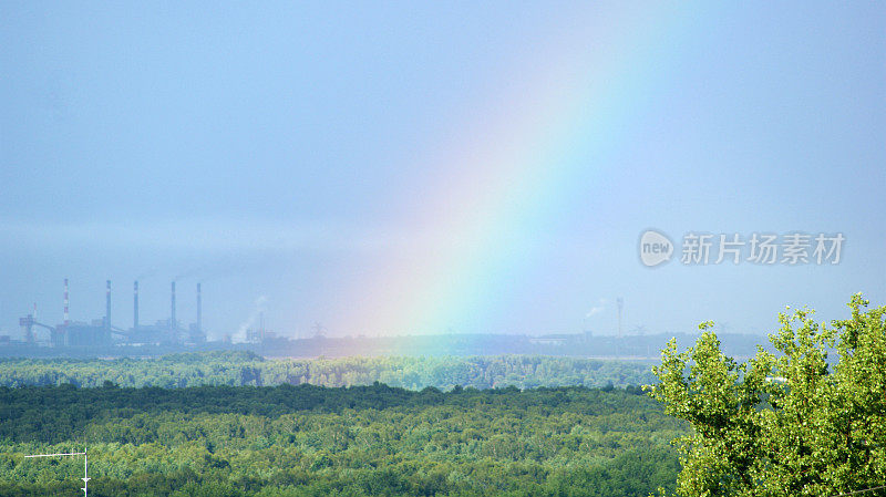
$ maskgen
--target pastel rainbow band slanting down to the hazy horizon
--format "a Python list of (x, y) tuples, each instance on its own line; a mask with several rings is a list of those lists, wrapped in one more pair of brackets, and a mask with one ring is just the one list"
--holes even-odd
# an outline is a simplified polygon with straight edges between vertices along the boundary
[(532, 234), (586, 194), (577, 185), (605, 180), (607, 155), (628, 146), (625, 130), (698, 15), (651, 10), (589, 14), (591, 25), (501, 74), (514, 84), (498, 105), (482, 105), (422, 165), (439, 173), (435, 194), (401, 208), (404, 224), (427, 235), (421, 248), (344, 297), (357, 302), (351, 333), (509, 331), (484, 325), (503, 312), (511, 277), (537, 265)]

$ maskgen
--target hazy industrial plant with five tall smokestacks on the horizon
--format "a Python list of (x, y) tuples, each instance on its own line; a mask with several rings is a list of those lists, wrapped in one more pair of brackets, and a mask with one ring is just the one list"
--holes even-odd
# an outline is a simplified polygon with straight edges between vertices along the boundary
[[(175, 281), (171, 288), (169, 318), (153, 324), (138, 321), (138, 281), (133, 283), (132, 328), (115, 327), (111, 321), (111, 281), (106, 282), (105, 314), (91, 322), (71, 321), (68, 313), (68, 279), (64, 279), (64, 320), (50, 325), (35, 319), (35, 313), (19, 319), (24, 343), (52, 348), (109, 346), (120, 345), (197, 345), (206, 342), (203, 329), (203, 297), (200, 283), (197, 283), (196, 321), (187, 328), (178, 321), (175, 313)], [(38, 333), (45, 330), (48, 334)], [(42, 338), (39, 334), (43, 335)]]

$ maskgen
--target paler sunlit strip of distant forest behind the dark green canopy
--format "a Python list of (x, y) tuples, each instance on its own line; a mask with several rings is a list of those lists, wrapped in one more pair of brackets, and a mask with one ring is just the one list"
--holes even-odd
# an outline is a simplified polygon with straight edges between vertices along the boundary
[(188, 387), (199, 385), (371, 385), (422, 390), (455, 385), (516, 386), (639, 385), (655, 382), (651, 363), (544, 355), (343, 358), (265, 360), (247, 351), (184, 353), (159, 359), (0, 359), (0, 385)]

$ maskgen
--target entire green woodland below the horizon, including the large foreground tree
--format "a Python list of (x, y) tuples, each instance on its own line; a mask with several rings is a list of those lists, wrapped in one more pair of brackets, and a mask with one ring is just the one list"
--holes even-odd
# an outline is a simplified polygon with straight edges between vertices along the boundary
[(25, 456), (86, 449), (90, 495), (109, 497), (882, 497), (886, 307), (868, 304), (853, 296), (830, 324), (780, 314), (775, 352), (745, 362), (712, 322), (655, 366), (7, 360), (0, 495), (79, 495), (82, 456)]

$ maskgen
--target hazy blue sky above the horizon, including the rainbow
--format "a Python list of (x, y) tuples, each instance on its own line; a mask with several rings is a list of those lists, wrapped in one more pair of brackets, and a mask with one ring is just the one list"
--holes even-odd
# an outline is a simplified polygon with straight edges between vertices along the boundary
[[(61, 321), (65, 277), (84, 321), (111, 279), (120, 327), (134, 279), (143, 322), (203, 281), (210, 336), (886, 303), (883, 4), (587, 3), (0, 3), (0, 333)], [(648, 228), (677, 244), (651, 269)], [(839, 263), (679, 260), (794, 231)]]

